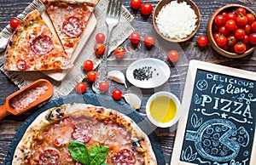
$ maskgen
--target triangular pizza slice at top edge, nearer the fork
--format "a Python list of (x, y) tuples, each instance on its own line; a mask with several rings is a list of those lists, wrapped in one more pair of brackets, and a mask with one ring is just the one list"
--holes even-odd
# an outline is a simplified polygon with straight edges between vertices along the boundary
[(43, 0), (43, 3), (71, 58), (98, 0)]

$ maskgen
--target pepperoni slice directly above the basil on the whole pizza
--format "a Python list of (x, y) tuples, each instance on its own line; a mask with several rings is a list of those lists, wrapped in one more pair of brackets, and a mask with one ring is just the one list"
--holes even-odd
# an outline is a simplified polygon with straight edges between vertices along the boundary
[(89, 121), (80, 121), (75, 123), (72, 131), (72, 138), (82, 143), (88, 142), (93, 134), (91, 123)]

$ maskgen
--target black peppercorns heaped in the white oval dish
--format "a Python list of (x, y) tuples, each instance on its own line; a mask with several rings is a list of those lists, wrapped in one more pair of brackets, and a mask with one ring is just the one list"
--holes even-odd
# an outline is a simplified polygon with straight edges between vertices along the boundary
[[(133, 77), (139, 81), (149, 80), (153, 77), (153, 72), (156, 71), (152, 66), (143, 66), (133, 71)], [(157, 76), (159, 73), (156, 74)]]

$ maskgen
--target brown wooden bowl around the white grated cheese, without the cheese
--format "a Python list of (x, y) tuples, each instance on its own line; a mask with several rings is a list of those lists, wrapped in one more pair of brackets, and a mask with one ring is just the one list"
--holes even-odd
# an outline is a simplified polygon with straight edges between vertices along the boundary
[(158, 16), (158, 14), (160, 13), (160, 10), (168, 3), (171, 3), (173, 0), (162, 0), (160, 1), (160, 3), (158, 3), (155, 8), (154, 8), (154, 14), (153, 14), (153, 25), (154, 25), (154, 29), (155, 31), (160, 35), (160, 37), (164, 38), (166, 41), (172, 42), (172, 43), (182, 43), (185, 42), (187, 40), (189, 40), (191, 37), (193, 37), (196, 33), (196, 31), (198, 31), (199, 26), (200, 26), (200, 22), (201, 22), (201, 13), (200, 10), (198, 9), (198, 7), (196, 6), (196, 4), (192, 1), (192, 0), (177, 0), (177, 3), (182, 3), (182, 2), (186, 2), (188, 5), (190, 5), (191, 9), (193, 9), (195, 11), (195, 14), (197, 16), (197, 21), (196, 21), (196, 27), (195, 30), (192, 31), (189, 36), (184, 37), (182, 39), (173, 39), (170, 37), (166, 37), (164, 36), (160, 31), (159, 28), (155, 22), (155, 18)]

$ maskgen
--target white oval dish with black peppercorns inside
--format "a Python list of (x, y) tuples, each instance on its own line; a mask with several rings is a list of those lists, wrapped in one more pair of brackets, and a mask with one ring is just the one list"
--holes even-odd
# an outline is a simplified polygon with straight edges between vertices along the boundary
[(126, 70), (127, 80), (138, 88), (156, 88), (167, 82), (169, 66), (162, 60), (146, 58), (136, 60)]

